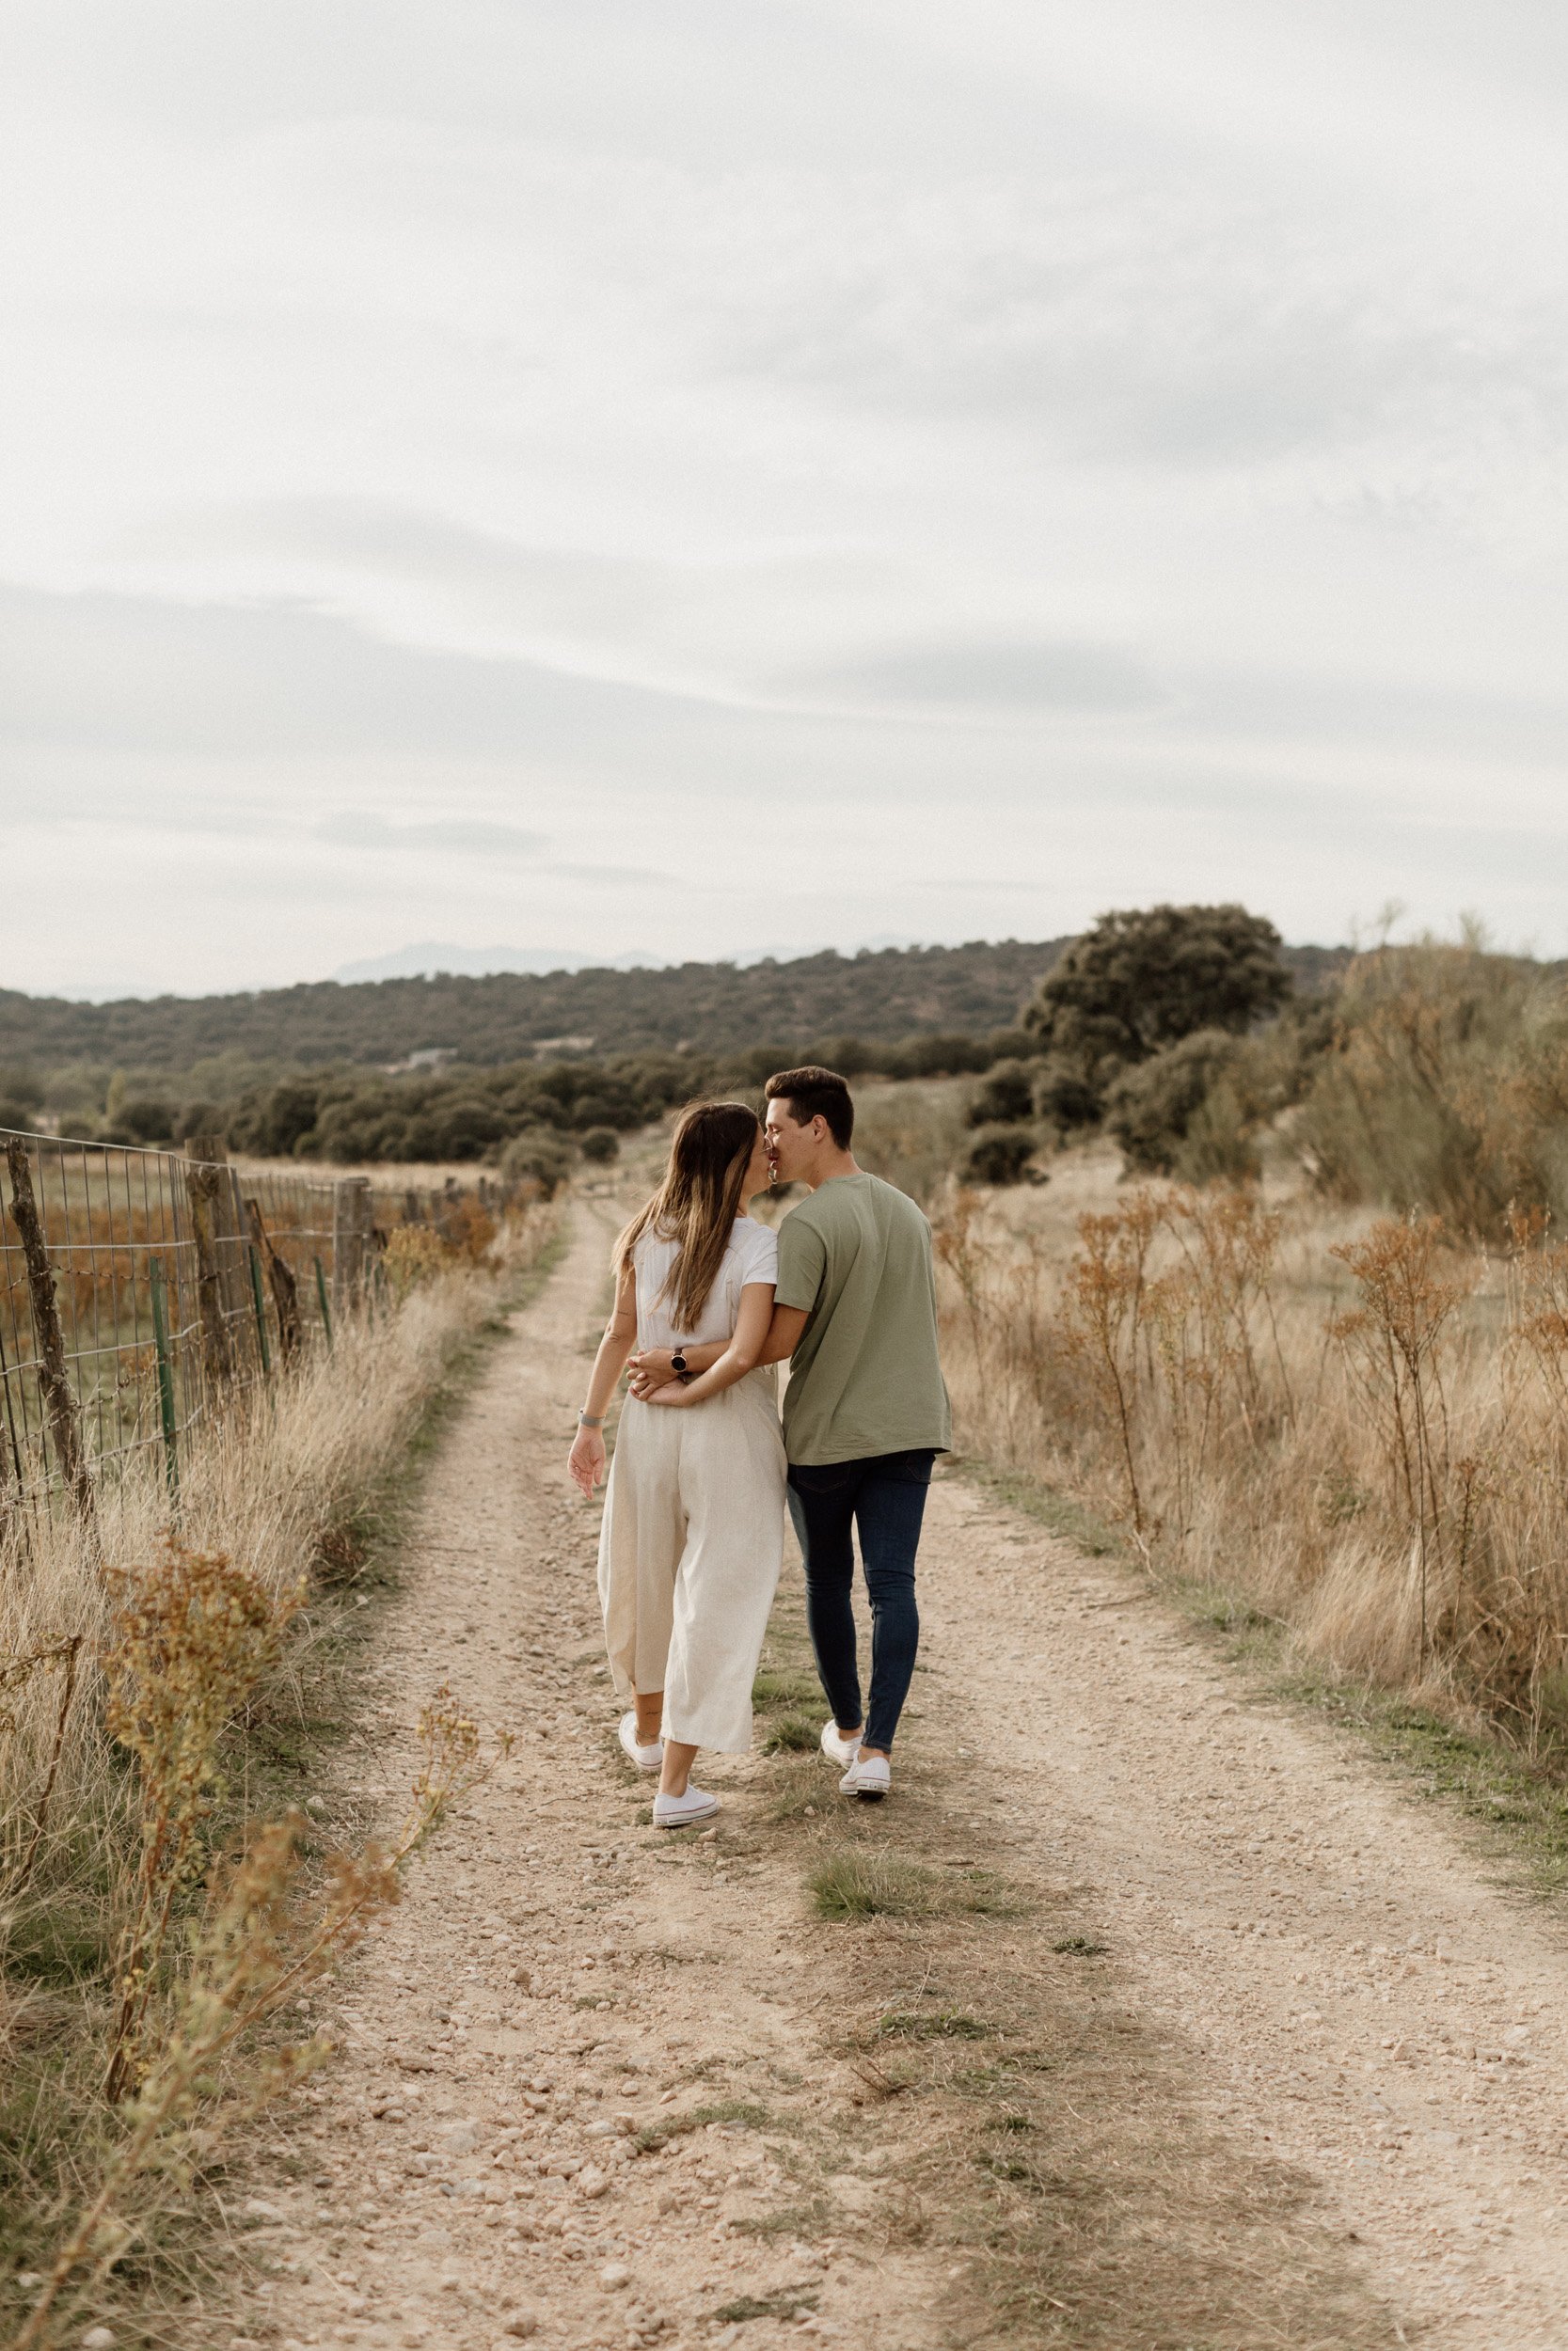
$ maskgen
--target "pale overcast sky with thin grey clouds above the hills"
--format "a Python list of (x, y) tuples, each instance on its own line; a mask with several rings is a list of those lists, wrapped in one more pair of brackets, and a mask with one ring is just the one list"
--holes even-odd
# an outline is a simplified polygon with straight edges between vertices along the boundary
[(0, 985), (1568, 952), (1561, 9), (0, 35)]

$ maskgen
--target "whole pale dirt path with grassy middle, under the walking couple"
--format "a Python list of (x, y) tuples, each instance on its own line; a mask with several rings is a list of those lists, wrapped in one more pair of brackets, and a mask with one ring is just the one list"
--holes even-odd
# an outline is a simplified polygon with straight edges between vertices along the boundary
[[(896, 1803), (755, 1754), (717, 1834), (646, 1827), (562, 1476), (574, 1215), (428, 1476), (343, 1817), (397, 1815), (442, 1676), (520, 1747), (320, 2003), (346, 2052), (254, 2149), (214, 2342), (1561, 2344), (1552, 1921), (959, 1476)], [(792, 1582), (769, 1662), (788, 1747)]]

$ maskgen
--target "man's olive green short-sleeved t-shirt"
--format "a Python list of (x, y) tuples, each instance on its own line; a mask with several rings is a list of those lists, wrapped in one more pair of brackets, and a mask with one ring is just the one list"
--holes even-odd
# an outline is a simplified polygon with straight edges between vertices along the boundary
[(783, 1425), (792, 1462), (952, 1446), (931, 1225), (879, 1176), (830, 1176), (778, 1227), (780, 1307), (806, 1307)]

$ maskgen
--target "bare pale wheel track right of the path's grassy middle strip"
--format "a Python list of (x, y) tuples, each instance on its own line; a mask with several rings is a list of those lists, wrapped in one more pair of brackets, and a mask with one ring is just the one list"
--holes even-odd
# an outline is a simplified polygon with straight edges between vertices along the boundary
[(1133, 1573), (959, 1479), (922, 1596), (1009, 1754), (980, 1817), (1081, 1881), (1208, 2111), (1321, 2182), (1410, 2339), (1568, 2342), (1561, 1918), (1349, 1737), (1248, 1702)]

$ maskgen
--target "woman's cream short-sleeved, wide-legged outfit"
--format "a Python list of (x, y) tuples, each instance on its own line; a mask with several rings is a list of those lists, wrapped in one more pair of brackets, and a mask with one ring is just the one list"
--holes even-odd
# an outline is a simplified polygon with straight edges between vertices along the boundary
[[(778, 1241), (736, 1218), (696, 1331), (675, 1331), (661, 1288), (675, 1244), (642, 1234), (637, 1345), (733, 1338), (741, 1291), (773, 1281)], [(623, 1700), (665, 1693), (663, 1735), (745, 1754), (752, 1681), (766, 1634), (785, 1526), (785, 1448), (771, 1368), (684, 1411), (628, 1396), (599, 1528), (604, 1643)]]

